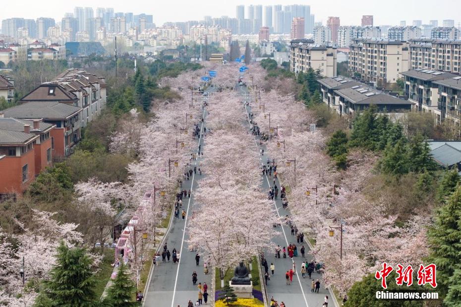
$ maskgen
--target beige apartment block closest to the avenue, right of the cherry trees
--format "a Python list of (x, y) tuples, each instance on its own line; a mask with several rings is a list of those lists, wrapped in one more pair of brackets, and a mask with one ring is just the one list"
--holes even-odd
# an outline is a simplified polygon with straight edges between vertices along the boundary
[(325, 77), (336, 76), (336, 47), (316, 45), (313, 40), (290, 41), (290, 70), (298, 73), (309, 68), (319, 70)]

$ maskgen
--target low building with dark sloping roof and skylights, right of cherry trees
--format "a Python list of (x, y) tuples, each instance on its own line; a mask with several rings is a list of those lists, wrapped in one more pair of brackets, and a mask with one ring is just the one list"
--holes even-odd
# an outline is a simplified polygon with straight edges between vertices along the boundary
[(390, 95), (368, 84), (342, 76), (319, 79), (323, 102), (340, 115), (353, 115), (370, 105), (381, 113), (403, 113), (411, 110), (412, 102)]

